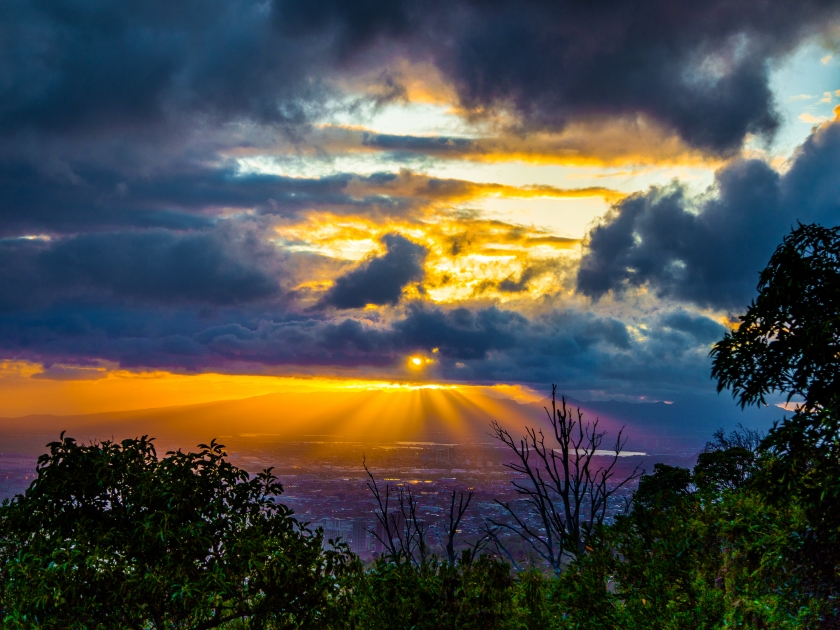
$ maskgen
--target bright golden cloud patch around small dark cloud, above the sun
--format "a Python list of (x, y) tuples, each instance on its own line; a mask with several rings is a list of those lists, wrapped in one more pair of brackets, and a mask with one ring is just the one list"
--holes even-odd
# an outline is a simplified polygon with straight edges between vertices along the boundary
[[(536, 299), (568, 284), (580, 241), (536, 227), (438, 212), (401, 220), (311, 212), (275, 226), (277, 242), (309, 257), (290, 266), (289, 288), (303, 305), (315, 304), (332, 280), (358, 261), (381, 256), (380, 238), (398, 232), (428, 254), (425, 278), (406, 297), (454, 302), (476, 298)], [(315, 264), (311, 264), (314, 261)]]

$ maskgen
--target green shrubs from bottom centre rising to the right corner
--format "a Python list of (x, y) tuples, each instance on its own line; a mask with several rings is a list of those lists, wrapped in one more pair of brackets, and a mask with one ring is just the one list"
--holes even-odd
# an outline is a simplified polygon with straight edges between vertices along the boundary
[(511, 577), (487, 557), (457, 566), (381, 558), (355, 589), (356, 627), (837, 627), (836, 580), (819, 577), (807, 555), (807, 503), (766, 492), (780, 458), (755, 450), (743, 430), (716, 438), (694, 470), (660, 464), (644, 476), (632, 511), (601, 526), (559, 576)]

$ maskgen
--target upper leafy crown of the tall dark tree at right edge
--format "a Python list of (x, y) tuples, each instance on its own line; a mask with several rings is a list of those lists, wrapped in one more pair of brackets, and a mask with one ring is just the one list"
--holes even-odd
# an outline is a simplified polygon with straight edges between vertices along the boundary
[(772, 392), (804, 399), (805, 411), (840, 401), (840, 227), (800, 225), (761, 272), (741, 324), (712, 349), (718, 391), (741, 406)]

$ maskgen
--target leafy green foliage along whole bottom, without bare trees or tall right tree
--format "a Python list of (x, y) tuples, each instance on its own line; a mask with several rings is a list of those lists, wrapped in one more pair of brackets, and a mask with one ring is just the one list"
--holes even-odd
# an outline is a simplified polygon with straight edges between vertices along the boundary
[[(826, 485), (840, 479), (826, 463), (836, 443), (790, 477), (786, 467), (803, 464), (789, 453), (727, 440), (693, 471), (657, 465), (632, 511), (599, 526), (556, 576), (471, 550), (455, 563), (396, 554), (363, 569), (276, 503), (269, 471), (249, 477), (216, 444), (158, 459), (145, 438), (64, 439), (0, 508), (4, 627), (836, 627), (825, 532), (837, 523), (812, 496), (837, 486)], [(784, 483), (787, 500), (766, 491)]]

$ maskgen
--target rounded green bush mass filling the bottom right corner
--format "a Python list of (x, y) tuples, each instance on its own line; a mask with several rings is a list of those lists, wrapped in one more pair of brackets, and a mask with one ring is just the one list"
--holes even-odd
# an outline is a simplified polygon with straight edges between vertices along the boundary
[[(576, 623), (565, 627), (835, 627), (836, 591), (814, 588), (803, 555), (807, 514), (796, 503), (771, 504), (757, 489), (767, 465), (762, 458), (739, 488), (701, 487), (696, 480), (707, 467), (661, 466), (644, 477), (643, 500), (609, 528), (604, 549), (561, 577), (578, 589), (564, 603)], [(604, 576), (606, 588), (593, 596)], [(586, 625), (603, 611), (605, 622)]]

